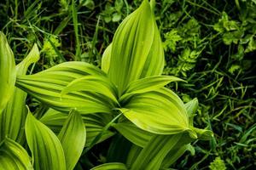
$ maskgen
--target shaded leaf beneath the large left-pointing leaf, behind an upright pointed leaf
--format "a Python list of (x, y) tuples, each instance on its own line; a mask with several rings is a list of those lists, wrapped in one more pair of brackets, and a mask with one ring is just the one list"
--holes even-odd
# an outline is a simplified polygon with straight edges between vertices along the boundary
[[(49, 109), (44, 116), (40, 119), (40, 122), (43, 122), (47, 125), (51, 130), (55, 133), (59, 133), (61, 131), (61, 127), (67, 119), (67, 114), (61, 113), (59, 111), (55, 111)], [(111, 118), (106, 114), (89, 114), (83, 116), (84, 126), (86, 125), (86, 144), (85, 146), (89, 146), (92, 140), (102, 132), (102, 129), (106, 126), (106, 124), (111, 120)], [(96, 143), (100, 143), (105, 139), (113, 136), (113, 132), (107, 130), (102, 134), (102, 138)]]

